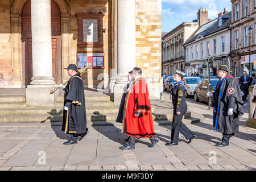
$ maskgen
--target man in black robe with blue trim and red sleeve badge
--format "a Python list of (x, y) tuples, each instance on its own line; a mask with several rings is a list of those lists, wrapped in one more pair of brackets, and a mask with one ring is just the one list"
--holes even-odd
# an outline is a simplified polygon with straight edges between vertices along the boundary
[[(217, 68), (220, 80), (213, 93), (213, 127), (214, 131), (222, 133), (222, 142), (217, 146), (229, 145), (229, 139), (238, 132), (239, 117), (243, 115), (240, 86), (228, 72), (226, 65)], [(210, 96), (212, 93), (208, 92), (207, 95)]]

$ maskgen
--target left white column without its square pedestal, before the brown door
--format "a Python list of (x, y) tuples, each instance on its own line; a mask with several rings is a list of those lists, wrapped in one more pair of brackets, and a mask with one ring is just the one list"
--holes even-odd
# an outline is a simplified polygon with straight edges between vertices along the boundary
[(55, 84), (52, 77), (51, 0), (31, 0), (31, 85)]

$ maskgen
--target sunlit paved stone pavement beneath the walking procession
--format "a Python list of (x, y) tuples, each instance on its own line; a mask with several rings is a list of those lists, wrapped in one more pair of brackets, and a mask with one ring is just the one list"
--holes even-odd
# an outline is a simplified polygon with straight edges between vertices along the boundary
[[(168, 92), (154, 107), (170, 111)], [(230, 145), (217, 147), (221, 133), (213, 131), (212, 109), (205, 102), (187, 99), (188, 110), (203, 114), (203, 122), (187, 125), (196, 138), (187, 143), (180, 134), (178, 146), (166, 146), (171, 126), (155, 126), (160, 141), (149, 148), (149, 139), (138, 139), (135, 150), (120, 150), (126, 142), (121, 126), (89, 126), (89, 133), (74, 145), (59, 123), (0, 123), (0, 171), (2, 170), (256, 170), (256, 130), (240, 119), (240, 132)], [(248, 103), (244, 105), (248, 110)], [(164, 111), (166, 110), (166, 111)]]

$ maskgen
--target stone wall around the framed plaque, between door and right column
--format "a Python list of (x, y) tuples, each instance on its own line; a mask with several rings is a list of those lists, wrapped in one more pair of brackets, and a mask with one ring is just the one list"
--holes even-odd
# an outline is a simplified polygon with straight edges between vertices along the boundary
[[(76, 63), (77, 61), (77, 51), (102, 51), (105, 53), (104, 56), (104, 66), (105, 68), (94, 68), (88, 69), (88, 72), (83, 75), (84, 85), (89, 88), (98, 86), (105, 77), (109, 74), (109, 3), (108, 0), (97, 0), (97, 1), (86, 1), (86, 0), (72, 0), (70, 1), (71, 8), (71, 61), (69, 63)], [(76, 13), (88, 13), (92, 11), (93, 13), (98, 13), (100, 10), (105, 9), (105, 15), (103, 17), (103, 28), (106, 28), (106, 32), (103, 33), (104, 46), (99, 48), (81, 48), (77, 46), (77, 33), (78, 24)], [(64, 67), (69, 63), (64, 63)], [(68, 80), (69, 76), (67, 72), (64, 72), (64, 80)], [(102, 84), (107, 85), (108, 79), (105, 79)]]

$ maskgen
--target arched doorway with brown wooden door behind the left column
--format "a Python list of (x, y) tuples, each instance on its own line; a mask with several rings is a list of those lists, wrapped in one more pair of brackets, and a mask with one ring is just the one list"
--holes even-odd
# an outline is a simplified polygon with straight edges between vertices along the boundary
[[(62, 81), (61, 76), (61, 13), (59, 6), (51, 0), (52, 23), (52, 77), (56, 84)], [(32, 70), (32, 36), (31, 36), (31, 1), (28, 0), (22, 9), (22, 49), (25, 63), (26, 85), (30, 84)]]

